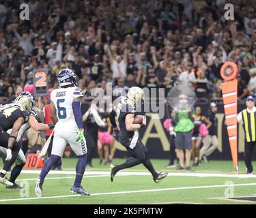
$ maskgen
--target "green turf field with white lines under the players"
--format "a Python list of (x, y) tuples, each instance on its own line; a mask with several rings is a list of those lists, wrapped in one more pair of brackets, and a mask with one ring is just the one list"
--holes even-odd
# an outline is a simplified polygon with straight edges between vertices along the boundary
[[(113, 163), (123, 161), (115, 159)], [(256, 198), (256, 176), (245, 175), (242, 161), (239, 175), (234, 172), (231, 161), (201, 163), (190, 173), (166, 169), (165, 160), (153, 159), (152, 162), (156, 170), (169, 171), (171, 175), (156, 184), (141, 165), (118, 173), (111, 183), (109, 166), (100, 166), (98, 159), (94, 159), (94, 168), (87, 169), (82, 184), (91, 196), (82, 197), (70, 192), (76, 159), (66, 158), (63, 171), (52, 171), (54, 174), (46, 177), (43, 198), (35, 198), (33, 184), (38, 172), (29, 170), (30, 174), (20, 174), (17, 181), (25, 184), (25, 189), (10, 190), (0, 185), (0, 204), (254, 204), (228, 199)]]

